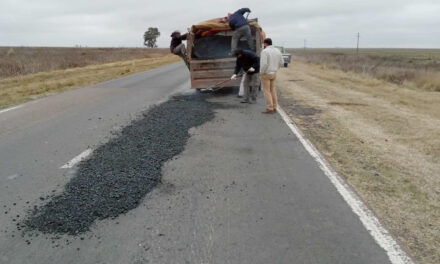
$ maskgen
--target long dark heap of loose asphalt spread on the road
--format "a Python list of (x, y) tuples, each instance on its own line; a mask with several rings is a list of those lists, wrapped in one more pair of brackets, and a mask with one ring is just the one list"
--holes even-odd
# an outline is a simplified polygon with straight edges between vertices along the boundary
[(81, 162), (61, 194), (30, 211), (26, 229), (77, 235), (136, 208), (160, 183), (162, 164), (183, 151), (188, 130), (214, 118), (206, 96), (177, 96), (143, 113)]

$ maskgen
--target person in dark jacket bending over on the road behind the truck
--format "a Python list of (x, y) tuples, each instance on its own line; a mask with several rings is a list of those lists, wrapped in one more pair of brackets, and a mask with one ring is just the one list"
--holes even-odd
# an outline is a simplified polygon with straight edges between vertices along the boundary
[[(237, 74), (241, 69), (245, 72), (244, 78), (244, 95), (242, 103), (255, 103), (257, 101), (257, 91), (260, 86), (260, 57), (251, 50), (237, 49), (234, 53), (237, 57), (234, 75), (231, 80), (237, 79)], [(251, 91), (249, 91), (251, 89)]]

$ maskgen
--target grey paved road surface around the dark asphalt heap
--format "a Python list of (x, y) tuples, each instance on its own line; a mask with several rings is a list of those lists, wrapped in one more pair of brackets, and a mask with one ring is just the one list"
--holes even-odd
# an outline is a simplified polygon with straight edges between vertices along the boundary
[(261, 95), (211, 97), (215, 119), (135, 210), (78, 237), (20, 236), (13, 219), (74, 175), (60, 166), (183, 90), (173, 64), (0, 113), (0, 263), (390, 263)]

